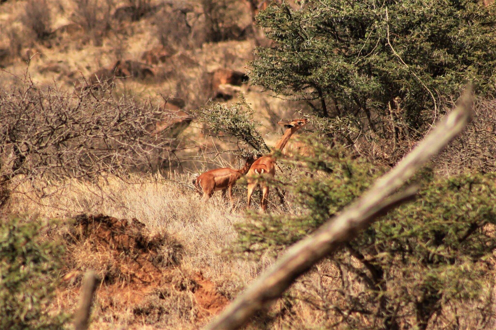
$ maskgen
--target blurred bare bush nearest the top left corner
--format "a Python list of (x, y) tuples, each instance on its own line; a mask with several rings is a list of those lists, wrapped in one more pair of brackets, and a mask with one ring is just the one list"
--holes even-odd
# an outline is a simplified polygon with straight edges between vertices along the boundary
[(21, 21), (37, 39), (46, 39), (52, 34), (52, 15), (47, 0), (28, 0)]

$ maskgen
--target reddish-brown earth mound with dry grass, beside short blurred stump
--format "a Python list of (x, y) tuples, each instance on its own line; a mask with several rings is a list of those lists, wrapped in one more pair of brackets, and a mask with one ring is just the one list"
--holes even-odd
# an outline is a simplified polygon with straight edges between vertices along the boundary
[(101, 279), (94, 314), (118, 319), (131, 310), (130, 325), (164, 323), (174, 313), (203, 324), (229, 302), (201, 272), (181, 268), (183, 247), (174, 237), (151, 234), (136, 219), (80, 215), (64, 238), (67, 285), (58, 295), (64, 308), (74, 306), (87, 269)]

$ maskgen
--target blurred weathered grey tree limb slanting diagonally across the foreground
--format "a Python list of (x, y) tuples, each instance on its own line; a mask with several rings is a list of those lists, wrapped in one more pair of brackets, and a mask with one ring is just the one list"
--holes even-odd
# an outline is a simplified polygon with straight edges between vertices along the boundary
[(431, 157), (437, 155), (472, 118), (472, 86), (468, 86), (456, 108), (447, 114), (431, 132), (391, 171), (380, 177), (359, 199), (332, 217), (309, 237), (301, 240), (205, 329), (232, 330), (243, 326), (257, 311), (279, 298), (293, 281), (307, 272), (323, 257), (336, 251), (344, 242), (356, 237), (378, 216), (411, 199), (415, 189), (400, 189)]

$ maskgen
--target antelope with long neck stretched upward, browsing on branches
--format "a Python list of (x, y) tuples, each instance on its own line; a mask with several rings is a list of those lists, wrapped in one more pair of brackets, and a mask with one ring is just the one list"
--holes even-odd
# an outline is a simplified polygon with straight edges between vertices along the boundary
[(289, 139), (291, 138), (291, 135), (293, 135), (297, 130), (305, 126), (309, 122), (308, 119), (303, 118), (303, 119), (292, 119), (290, 122), (284, 122), (284, 121), (279, 121), (278, 124), (286, 127), (286, 131), (284, 132), (284, 135), (281, 137), (281, 139), (277, 142), (276, 146), (274, 147), (274, 151), (270, 155), (265, 155), (257, 159), (253, 165), (251, 165), (250, 169), (248, 170), (247, 174), (247, 180), (248, 180), (248, 201), (247, 201), (247, 206), (249, 208), (251, 204), (251, 195), (253, 194), (253, 190), (256, 188), (258, 184), (260, 184), (260, 190), (262, 191), (262, 199), (260, 201), (260, 208), (262, 209), (262, 212), (265, 212), (267, 210), (267, 198), (269, 196), (269, 187), (262, 183), (258, 182), (256, 178), (253, 177), (254, 174), (269, 174), (271, 176), (275, 175), (275, 164), (276, 161), (273, 157), (274, 152), (276, 150), (282, 151), (284, 147), (286, 146), (286, 143), (288, 143)]

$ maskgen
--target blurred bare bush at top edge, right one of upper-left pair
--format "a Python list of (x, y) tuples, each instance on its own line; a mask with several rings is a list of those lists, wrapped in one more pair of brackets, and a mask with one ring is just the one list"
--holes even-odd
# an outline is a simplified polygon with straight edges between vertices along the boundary
[(97, 43), (112, 28), (111, 11), (114, 0), (74, 0), (75, 10), (72, 15), (74, 23), (81, 25), (90, 33)]

